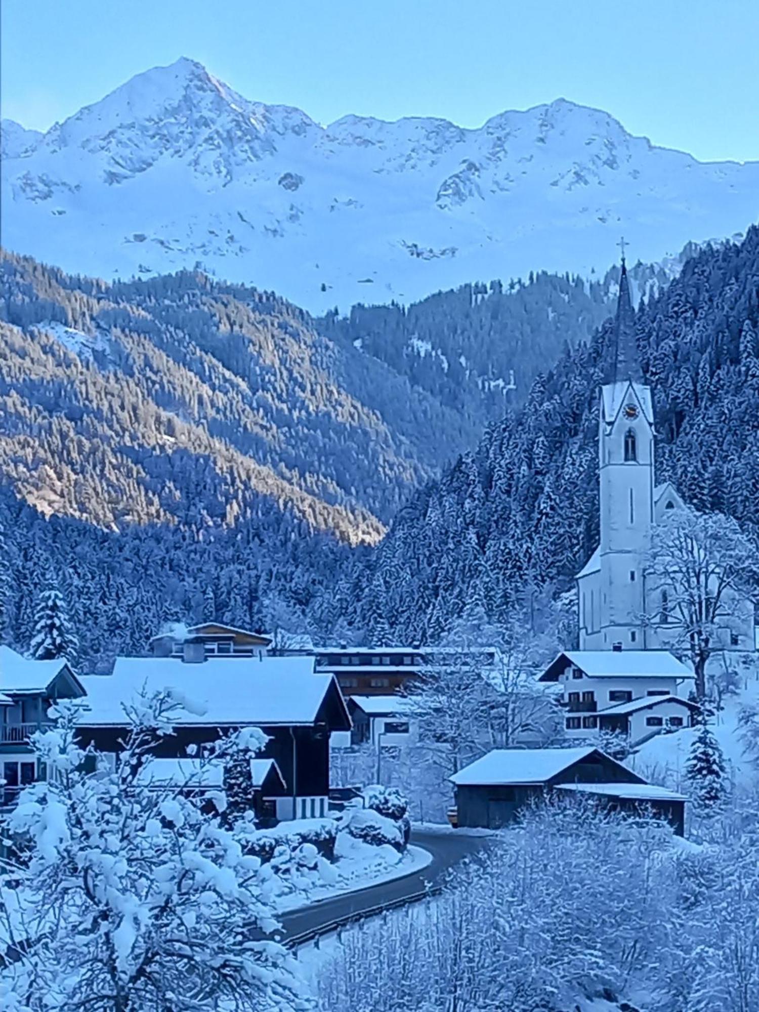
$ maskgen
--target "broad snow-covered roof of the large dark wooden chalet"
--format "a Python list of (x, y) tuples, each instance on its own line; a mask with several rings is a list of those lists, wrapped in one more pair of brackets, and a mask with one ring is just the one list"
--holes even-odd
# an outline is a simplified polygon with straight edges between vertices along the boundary
[[(311, 657), (212, 657), (199, 664), (118, 657), (111, 675), (89, 675), (82, 683), (87, 698), (80, 724), (86, 727), (123, 727), (123, 702), (165, 689), (186, 702), (174, 723), (234, 727), (314, 724), (334, 677), (315, 674)], [(336, 686), (335, 693), (344, 709)], [(347, 711), (344, 724), (350, 727)]]

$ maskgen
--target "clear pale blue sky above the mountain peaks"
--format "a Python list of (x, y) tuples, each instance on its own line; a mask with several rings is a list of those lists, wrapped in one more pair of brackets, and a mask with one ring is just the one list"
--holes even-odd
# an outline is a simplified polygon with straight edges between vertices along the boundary
[(2, 114), (46, 129), (180, 56), (248, 98), (480, 125), (563, 96), (759, 159), (756, 0), (2, 0)]

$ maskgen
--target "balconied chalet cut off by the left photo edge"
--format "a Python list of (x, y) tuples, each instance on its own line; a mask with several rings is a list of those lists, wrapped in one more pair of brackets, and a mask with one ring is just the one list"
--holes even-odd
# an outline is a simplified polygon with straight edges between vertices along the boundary
[(0, 647), (0, 807), (15, 804), (20, 789), (37, 779), (29, 739), (50, 723), (50, 706), (84, 691), (67, 661), (34, 661)]

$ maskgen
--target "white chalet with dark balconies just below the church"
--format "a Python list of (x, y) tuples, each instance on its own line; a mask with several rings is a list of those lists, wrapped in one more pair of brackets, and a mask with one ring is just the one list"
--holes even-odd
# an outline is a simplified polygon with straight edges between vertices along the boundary
[(610, 731), (638, 745), (690, 727), (697, 708), (679, 694), (692, 672), (666, 650), (567, 651), (538, 681), (561, 685), (570, 738)]

